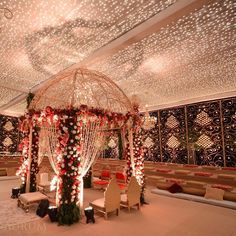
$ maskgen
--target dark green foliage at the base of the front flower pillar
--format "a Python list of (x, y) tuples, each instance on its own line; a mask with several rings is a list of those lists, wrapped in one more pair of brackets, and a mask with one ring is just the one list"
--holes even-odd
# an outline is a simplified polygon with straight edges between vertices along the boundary
[(71, 225), (79, 222), (80, 210), (75, 202), (62, 204), (58, 209), (58, 223), (59, 225)]

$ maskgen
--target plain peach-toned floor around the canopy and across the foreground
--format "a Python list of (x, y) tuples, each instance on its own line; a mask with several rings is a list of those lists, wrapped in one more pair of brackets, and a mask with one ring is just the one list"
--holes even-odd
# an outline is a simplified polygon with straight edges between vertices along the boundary
[[(1, 200), (7, 199), (16, 180), (0, 182)], [(98, 190), (85, 189), (85, 206), (89, 201), (102, 197)], [(236, 236), (236, 211), (187, 200), (159, 196), (146, 191), (149, 205), (140, 211), (122, 209), (120, 215), (110, 215), (108, 220), (96, 215), (95, 224), (80, 223), (57, 226), (43, 218), (34, 223), (0, 231), (0, 236), (27, 235), (82, 235), (82, 236)]]

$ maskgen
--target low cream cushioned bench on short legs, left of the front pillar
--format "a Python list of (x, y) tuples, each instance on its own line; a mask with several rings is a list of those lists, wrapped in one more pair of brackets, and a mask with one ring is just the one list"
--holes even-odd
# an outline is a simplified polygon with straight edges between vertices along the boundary
[(48, 199), (48, 197), (40, 192), (23, 193), (18, 198), (18, 207), (22, 207), (25, 211), (28, 211), (31, 204), (45, 199)]

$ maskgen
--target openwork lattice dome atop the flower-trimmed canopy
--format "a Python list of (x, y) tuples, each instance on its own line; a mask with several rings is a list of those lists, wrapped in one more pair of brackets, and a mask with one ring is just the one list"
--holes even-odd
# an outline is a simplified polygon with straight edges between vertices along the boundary
[(37, 91), (29, 108), (41, 110), (50, 106), (67, 109), (80, 105), (121, 113), (132, 109), (127, 96), (110, 78), (81, 68), (55, 75)]

